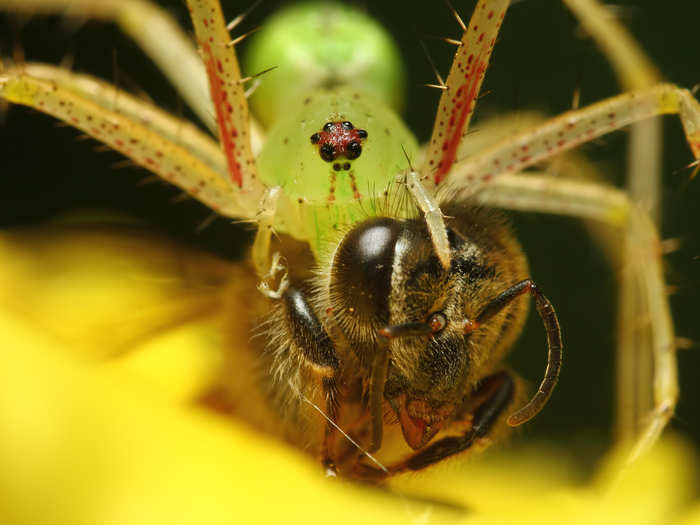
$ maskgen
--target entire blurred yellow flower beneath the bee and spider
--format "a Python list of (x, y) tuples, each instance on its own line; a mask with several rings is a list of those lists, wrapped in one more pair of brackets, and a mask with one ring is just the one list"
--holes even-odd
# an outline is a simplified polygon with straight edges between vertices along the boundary
[(700, 521), (696, 458), (673, 439), (587, 483), (565, 443), (456, 458), (391, 480), (393, 494), (325, 479), (192, 402), (249, 337), (227, 303), (244, 280), (143, 234), (0, 237), (0, 523)]

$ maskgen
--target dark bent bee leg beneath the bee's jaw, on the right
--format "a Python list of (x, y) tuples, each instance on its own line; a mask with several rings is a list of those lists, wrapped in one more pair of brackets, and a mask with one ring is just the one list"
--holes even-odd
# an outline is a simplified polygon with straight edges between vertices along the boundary
[[(360, 476), (380, 480), (386, 476), (409, 470), (422, 470), (470, 448), (479, 438), (491, 431), (504, 410), (513, 401), (515, 384), (507, 372), (497, 372), (482, 379), (476, 390), (469, 396), (472, 410), (465, 411), (463, 417), (471, 417), (471, 426), (461, 436), (442, 438), (407, 459), (390, 465), (380, 471), (369, 465), (359, 465)], [(476, 402), (474, 402), (476, 400)]]

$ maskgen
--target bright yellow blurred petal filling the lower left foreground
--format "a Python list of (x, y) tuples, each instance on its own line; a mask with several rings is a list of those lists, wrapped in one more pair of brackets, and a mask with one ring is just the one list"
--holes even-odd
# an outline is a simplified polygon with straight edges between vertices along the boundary
[(31, 326), (4, 316), (0, 331), (3, 523), (410, 521), (400, 500), (328, 481), (237, 423), (149, 399)]

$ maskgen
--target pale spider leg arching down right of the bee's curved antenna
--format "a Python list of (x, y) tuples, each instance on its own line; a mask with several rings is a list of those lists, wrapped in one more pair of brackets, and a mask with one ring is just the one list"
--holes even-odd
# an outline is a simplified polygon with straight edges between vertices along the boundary
[[(673, 416), (678, 401), (678, 366), (671, 311), (665, 291), (659, 239), (649, 217), (615, 188), (546, 176), (504, 175), (475, 198), (489, 206), (569, 215), (601, 221), (625, 235), (622, 249), (629, 282), (647, 310), (638, 345), (653, 356), (653, 410), (637, 424), (630, 461), (648, 450)], [(623, 329), (629, 325), (623, 324)], [(636, 349), (640, 351), (640, 348)]]

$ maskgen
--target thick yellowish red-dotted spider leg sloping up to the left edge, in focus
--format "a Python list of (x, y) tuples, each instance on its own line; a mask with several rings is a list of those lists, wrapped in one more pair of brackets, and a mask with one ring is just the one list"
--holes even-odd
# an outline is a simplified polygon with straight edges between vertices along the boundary
[[(99, 96), (93, 94), (98, 92)], [(214, 153), (218, 148), (211, 139), (113, 86), (87, 75), (74, 77), (58, 68), (30, 64), (0, 73), (0, 98), (84, 131), (222, 215), (255, 214), (218, 171), (221, 156)]]

